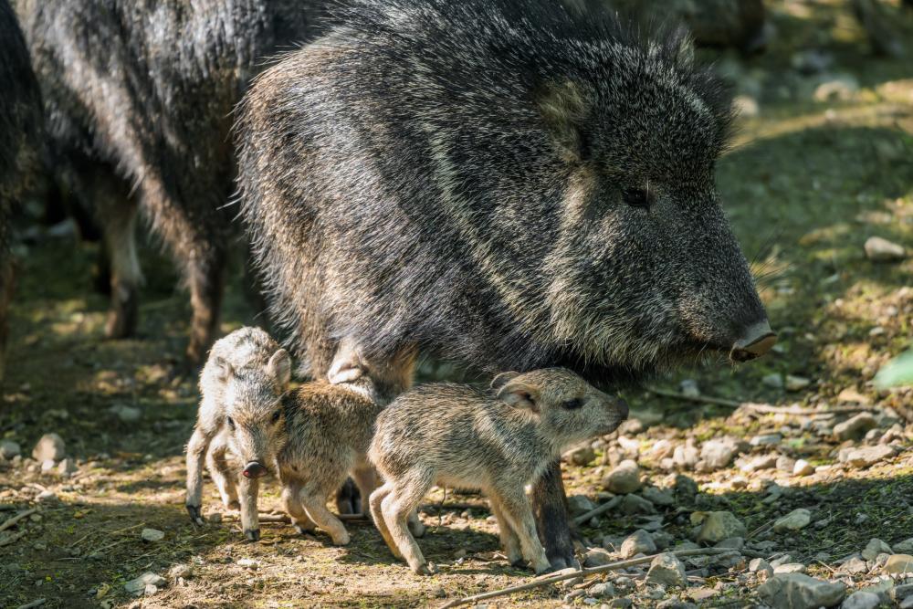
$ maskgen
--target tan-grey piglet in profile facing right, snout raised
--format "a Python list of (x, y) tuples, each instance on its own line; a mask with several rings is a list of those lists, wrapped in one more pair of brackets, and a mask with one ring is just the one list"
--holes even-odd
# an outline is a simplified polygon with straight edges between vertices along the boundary
[(479, 488), (498, 519), (511, 564), (550, 568), (524, 487), (561, 451), (613, 431), (627, 416), (623, 401), (575, 373), (547, 368), (501, 373), (488, 392), (435, 383), (400, 395), (377, 419), (369, 457), (384, 479), (371, 496), (374, 523), (394, 555), (428, 573), (404, 526), (432, 485)]

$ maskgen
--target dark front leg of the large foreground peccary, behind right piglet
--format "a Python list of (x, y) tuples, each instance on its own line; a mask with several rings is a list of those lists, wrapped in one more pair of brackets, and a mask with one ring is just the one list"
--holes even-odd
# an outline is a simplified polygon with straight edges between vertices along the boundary
[(551, 568), (560, 571), (575, 566), (567, 497), (561, 482), (561, 464), (549, 466), (532, 487), (532, 506), (542, 545)]

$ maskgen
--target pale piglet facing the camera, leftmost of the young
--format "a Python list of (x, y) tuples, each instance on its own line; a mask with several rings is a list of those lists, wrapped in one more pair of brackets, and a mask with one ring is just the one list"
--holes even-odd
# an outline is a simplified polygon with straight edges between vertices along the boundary
[[(245, 534), (258, 537), (257, 478), (266, 475), (269, 466), (276, 470), (278, 451), (285, 445), (281, 400), (290, 380), (289, 353), (266, 331), (242, 328), (215, 342), (200, 374), (203, 397), (187, 444), (186, 507), (191, 519), (203, 521), (205, 458), (226, 507), (240, 507)], [(230, 467), (229, 451), (244, 464), (242, 470)]]

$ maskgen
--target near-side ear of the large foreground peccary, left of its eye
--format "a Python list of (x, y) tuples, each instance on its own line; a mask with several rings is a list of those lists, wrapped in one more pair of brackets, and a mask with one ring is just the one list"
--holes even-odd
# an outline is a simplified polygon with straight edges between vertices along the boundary
[(582, 85), (571, 79), (546, 83), (538, 91), (536, 104), (561, 158), (567, 163), (582, 161), (586, 156), (583, 122), (591, 107)]

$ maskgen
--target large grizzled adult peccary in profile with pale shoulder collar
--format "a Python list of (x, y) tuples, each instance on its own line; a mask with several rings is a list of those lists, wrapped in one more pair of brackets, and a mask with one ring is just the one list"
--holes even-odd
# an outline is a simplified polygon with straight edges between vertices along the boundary
[[(243, 215), (312, 373), (346, 378), (351, 355), (402, 391), (436, 352), (604, 385), (770, 350), (714, 186), (729, 100), (686, 37), (552, 0), (340, 18), (238, 116)], [(557, 461), (533, 500), (552, 565), (572, 563)]]

